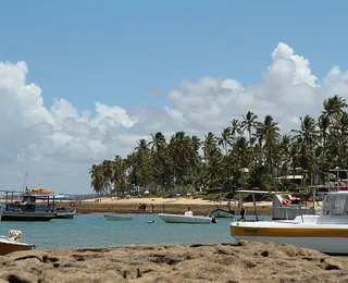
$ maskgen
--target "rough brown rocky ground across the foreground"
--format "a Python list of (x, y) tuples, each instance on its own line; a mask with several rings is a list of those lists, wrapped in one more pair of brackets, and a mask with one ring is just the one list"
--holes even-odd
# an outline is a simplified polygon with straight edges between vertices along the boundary
[(348, 260), (273, 243), (16, 251), (0, 282), (348, 282)]

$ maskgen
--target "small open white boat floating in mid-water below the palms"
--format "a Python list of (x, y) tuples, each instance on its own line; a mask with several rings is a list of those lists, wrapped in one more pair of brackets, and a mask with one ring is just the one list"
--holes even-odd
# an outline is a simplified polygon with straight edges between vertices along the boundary
[(185, 211), (184, 214), (159, 213), (159, 218), (166, 223), (186, 223), (186, 224), (211, 224), (216, 223), (213, 217), (194, 216), (192, 211)]

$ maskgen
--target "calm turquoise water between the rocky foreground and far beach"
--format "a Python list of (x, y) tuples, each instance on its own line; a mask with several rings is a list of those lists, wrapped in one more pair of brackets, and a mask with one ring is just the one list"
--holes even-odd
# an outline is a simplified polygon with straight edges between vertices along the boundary
[[(167, 224), (157, 214), (133, 216), (133, 221), (107, 221), (103, 213), (53, 219), (48, 222), (0, 222), (0, 235), (23, 232), (22, 241), (37, 249), (123, 246), (130, 244), (192, 244), (233, 242), (229, 219), (216, 224)], [(154, 223), (147, 223), (154, 220)]]

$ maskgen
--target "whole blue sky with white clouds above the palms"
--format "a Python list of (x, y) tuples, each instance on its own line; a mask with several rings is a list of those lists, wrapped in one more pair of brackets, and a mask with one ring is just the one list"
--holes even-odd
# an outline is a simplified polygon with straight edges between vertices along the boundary
[(1, 1), (1, 189), (91, 193), (139, 138), (348, 99), (346, 1)]

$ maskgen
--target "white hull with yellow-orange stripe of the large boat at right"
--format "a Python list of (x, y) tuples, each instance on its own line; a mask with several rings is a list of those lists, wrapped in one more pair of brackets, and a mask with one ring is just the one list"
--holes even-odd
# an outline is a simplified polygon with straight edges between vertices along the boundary
[(312, 248), (325, 254), (348, 255), (348, 227), (339, 225), (299, 225), (273, 223), (266, 225), (236, 222), (231, 224), (231, 235), (236, 241), (273, 242)]

